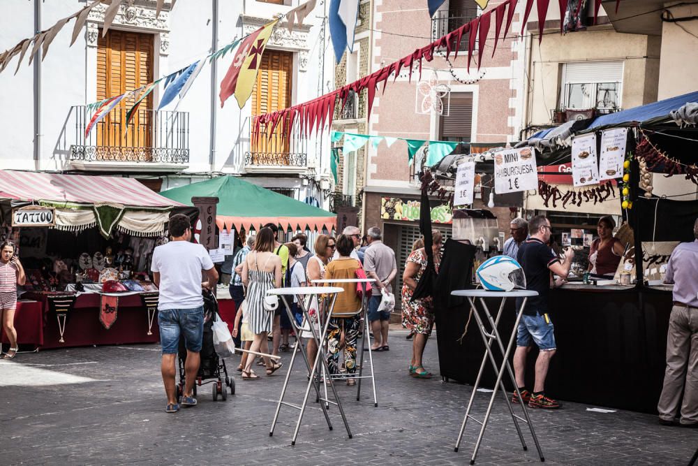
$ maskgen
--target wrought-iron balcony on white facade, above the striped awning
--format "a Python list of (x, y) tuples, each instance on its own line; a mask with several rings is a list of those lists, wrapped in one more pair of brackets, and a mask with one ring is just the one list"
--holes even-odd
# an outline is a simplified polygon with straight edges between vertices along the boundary
[[(126, 124), (126, 108), (115, 108), (85, 138), (94, 109), (75, 105), (75, 144), (70, 166), (76, 170), (179, 172), (189, 163), (188, 112), (136, 110)], [(71, 125), (72, 126), (72, 125)]]

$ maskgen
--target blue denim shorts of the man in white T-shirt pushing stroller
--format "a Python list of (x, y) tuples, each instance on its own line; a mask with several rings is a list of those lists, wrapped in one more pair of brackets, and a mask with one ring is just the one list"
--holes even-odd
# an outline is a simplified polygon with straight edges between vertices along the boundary
[(160, 344), (163, 354), (177, 354), (179, 335), (184, 335), (184, 346), (193, 353), (201, 351), (204, 337), (204, 307), (168, 309), (158, 312)]

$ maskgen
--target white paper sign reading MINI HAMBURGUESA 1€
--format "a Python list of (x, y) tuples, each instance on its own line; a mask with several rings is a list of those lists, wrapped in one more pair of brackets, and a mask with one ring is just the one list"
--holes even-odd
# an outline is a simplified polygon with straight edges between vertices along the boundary
[(497, 194), (538, 189), (533, 147), (503, 150), (494, 154), (494, 191)]

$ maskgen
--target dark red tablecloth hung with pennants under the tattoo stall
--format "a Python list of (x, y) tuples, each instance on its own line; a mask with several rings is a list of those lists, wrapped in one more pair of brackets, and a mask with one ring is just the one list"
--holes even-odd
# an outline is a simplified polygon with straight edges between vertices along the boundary
[[(59, 342), (58, 320), (54, 312), (50, 312), (45, 296), (36, 293), (25, 293), (23, 296), (38, 300), (43, 310), (43, 349), (84, 347), (93, 344), (134, 344), (156, 343), (160, 341), (158, 315), (155, 313), (151, 335), (148, 335), (148, 311), (142, 305), (140, 296), (122, 296), (119, 298), (117, 321), (107, 330), (99, 321), (100, 295), (83, 293), (77, 297), (75, 307), (68, 312), (66, 330), (63, 334), (64, 343)], [(15, 317), (15, 322), (17, 317)], [(36, 323), (38, 326), (38, 323)], [(34, 330), (40, 331), (40, 330)], [(19, 334), (20, 330), (17, 330)], [(20, 343), (22, 341), (20, 340)]]

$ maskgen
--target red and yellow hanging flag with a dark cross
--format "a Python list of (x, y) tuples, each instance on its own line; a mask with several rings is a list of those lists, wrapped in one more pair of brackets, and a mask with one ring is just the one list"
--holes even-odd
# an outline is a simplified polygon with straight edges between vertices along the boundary
[(232, 94), (235, 94), (240, 108), (243, 108), (247, 99), (250, 98), (257, 72), (262, 64), (262, 54), (277, 22), (279, 20), (265, 24), (247, 36), (240, 44), (235, 57), (232, 59), (232, 64), (228, 68), (228, 73), (225, 74), (225, 78), (221, 82), (221, 93), (219, 94), (221, 107)]

